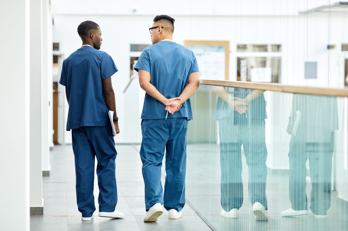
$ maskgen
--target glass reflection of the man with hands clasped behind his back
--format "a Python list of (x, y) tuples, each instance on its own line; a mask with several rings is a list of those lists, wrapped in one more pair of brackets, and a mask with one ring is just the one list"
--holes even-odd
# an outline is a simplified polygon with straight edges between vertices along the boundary
[(242, 145), (249, 168), (249, 200), (256, 220), (268, 220), (265, 142), (266, 103), (263, 91), (217, 87), (214, 118), (219, 121), (221, 216), (238, 218), (243, 204)]

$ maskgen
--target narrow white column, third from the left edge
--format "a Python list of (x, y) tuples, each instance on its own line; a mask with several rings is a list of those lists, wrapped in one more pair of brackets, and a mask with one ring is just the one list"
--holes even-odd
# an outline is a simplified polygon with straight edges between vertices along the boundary
[[(42, 176), (49, 176), (49, 136), (52, 136), (49, 129), (49, 48), (52, 50), (52, 44), (48, 45), (48, 0), (42, 1)], [(52, 22), (52, 20), (51, 20)], [(52, 64), (50, 64), (52, 66)], [(52, 84), (52, 83), (51, 83)], [(52, 89), (51, 94), (52, 94)], [(51, 132), (52, 133), (52, 132)]]

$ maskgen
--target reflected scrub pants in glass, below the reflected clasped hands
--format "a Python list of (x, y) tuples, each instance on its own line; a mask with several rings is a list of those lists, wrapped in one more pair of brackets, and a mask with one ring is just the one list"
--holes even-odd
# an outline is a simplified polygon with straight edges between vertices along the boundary
[(243, 204), (242, 144), (249, 168), (249, 200), (267, 210), (267, 148), (264, 119), (222, 118), (219, 120), (221, 206), (225, 211)]

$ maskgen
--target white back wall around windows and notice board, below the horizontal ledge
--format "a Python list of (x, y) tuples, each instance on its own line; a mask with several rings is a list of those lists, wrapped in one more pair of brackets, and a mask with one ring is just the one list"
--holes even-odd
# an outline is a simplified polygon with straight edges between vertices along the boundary
[[(77, 26), (84, 20), (93, 20), (101, 26), (103, 33), (102, 50), (114, 59), (119, 72), (113, 78), (116, 93), (116, 108), (120, 117), (120, 130), (134, 129), (139, 123), (124, 124), (125, 114), (132, 105), (132, 99), (122, 93), (129, 79), (129, 45), (148, 44), (148, 28), (153, 16), (103, 16), (103, 15), (55, 15), (53, 40), (60, 43), (60, 52), (68, 57), (81, 46)], [(339, 76), (340, 45), (348, 42), (344, 30), (348, 19), (332, 16), (330, 29), (326, 16), (289, 17), (231, 17), (231, 16), (177, 16), (175, 17), (174, 40), (183, 44), (184, 40), (229, 40), (230, 80), (236, 79), (237, 44), (282, 44), (281, 83), (310, 86), (341, 86)], [(348, 28), (347, 28), (348, 29)], [(331, 31), (329, 40), (327, 34)], [(307, 39), (308, 37), (308, 39)], [(327, 50), (327, 44), (336, 44), (334, 50)], [(331, 55), (329, 58), (329, 54)], [(318, 62), (318, 78), (304, 79), (304, 62)], [(329, 63), (330, 61), (330, 63)], [(330, 65), (330, 66), (329, 66)], [(329, 69), (330, 67), (330, 69)], [(330, 72), (329, 72), (330, 71)], [(125, 133), (120, 133), (116, 142), (130, 142)], [(71, 136), (67, 135), (71, 142)], [(140, 142), (140, 140), (139, 140)]]

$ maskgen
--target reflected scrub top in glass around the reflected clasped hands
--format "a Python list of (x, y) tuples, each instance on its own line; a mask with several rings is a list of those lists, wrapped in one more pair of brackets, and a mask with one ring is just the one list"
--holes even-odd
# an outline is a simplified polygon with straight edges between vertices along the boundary
[[(232, 88), (225, 87), (226, 91), (232, 96), (244, 99), (250, 94), (252, 89), (245, 88)], [(226, 117), (233, 118), (248, 118), (248, 119), (266, 119), (266, 102), (264, 100), (263, 94), (261, 94), (258, 98), (249, 102), (247, 105), (246, 113), (240, 115), (238, 112), (232, 110), (227, 102), (225, 102), (220, 97), (217, 97), (216, 100), (216, 108), (215, 108), (215, 116), (214, 119), (219, 120)]]

